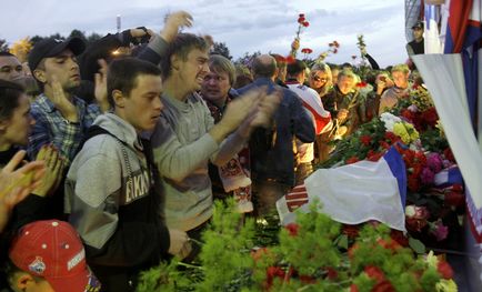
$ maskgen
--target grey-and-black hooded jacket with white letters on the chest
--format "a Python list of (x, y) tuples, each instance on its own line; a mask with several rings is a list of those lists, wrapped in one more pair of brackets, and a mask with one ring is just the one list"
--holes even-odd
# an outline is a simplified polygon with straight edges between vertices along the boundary
[(113, 113), (100, 115), (93, 124), (109, 133), (87, 140), (73, 160), (66, 182), (66, 212), (86, 245), (89, 265), (104, 285), (112, 282), (109, 276), (119, 282), (119, 274), (125, 274), (127, 282), (159, 264), (170, 242), (160, 212), (159, 175), (145, 157), (152, 158), (150, 145)]

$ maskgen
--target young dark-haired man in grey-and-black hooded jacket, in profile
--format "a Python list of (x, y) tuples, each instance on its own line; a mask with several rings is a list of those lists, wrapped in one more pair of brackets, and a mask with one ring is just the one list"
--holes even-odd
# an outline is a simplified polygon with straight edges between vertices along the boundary
[(168, 252), (190, 252), (188, 235), (168, 230), (163, 193), (149, 141), (163, 104), (161, 72), (128, 58), (108, 71), (113, 112), (96, 119), (66, 182), (69, 221), (86, 244), (87, 260), (106, 291), (132, 291), (138, 273)]

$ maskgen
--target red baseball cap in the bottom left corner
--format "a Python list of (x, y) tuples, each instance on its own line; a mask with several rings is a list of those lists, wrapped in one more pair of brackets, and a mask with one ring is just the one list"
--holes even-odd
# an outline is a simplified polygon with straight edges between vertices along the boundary
[(67, 222), (24, 225), (13, 239), (9, 256), (20, 270), (46, 279), (54, 291), (100, 291), (100, 282), (86, 263), (82, 242)]

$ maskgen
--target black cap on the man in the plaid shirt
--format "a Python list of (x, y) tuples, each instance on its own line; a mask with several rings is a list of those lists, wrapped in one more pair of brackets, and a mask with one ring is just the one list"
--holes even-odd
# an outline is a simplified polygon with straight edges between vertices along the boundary
[(86, 50), (86, 43), (80, 38), (69, 38), (64, 41), (50, 38), (39, 41), (29, 53), (30, 70), (33, 72), (42, 59), (56, 57), (67, 49), (79, 56)]

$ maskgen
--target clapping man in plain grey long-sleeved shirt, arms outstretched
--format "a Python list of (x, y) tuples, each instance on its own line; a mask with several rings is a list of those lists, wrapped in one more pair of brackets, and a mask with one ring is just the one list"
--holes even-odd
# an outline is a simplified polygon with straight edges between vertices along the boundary
[(224, 165), (241, 150), (252, 128), (268, 123), (278, 100), (260, 91), (237, 98), (214, 124), (197, 93), (209, 72), (208, 60), (209, 46), (201, 37), (180, 33), (169, 44), (161, 61), (165, 108), (151, 137), (165, 189), (168, 225), (191, 238), (200, 238), (212, 215), (208, 160)]

